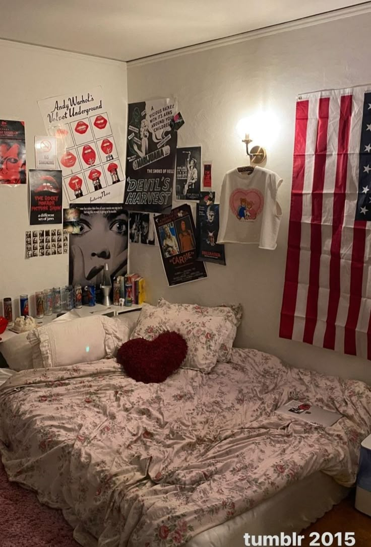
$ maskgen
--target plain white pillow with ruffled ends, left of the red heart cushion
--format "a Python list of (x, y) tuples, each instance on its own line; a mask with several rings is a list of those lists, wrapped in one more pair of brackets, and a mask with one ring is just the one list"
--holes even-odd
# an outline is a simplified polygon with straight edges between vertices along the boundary
[(114, 357), (129, 339), (129, 329), (119, 331), (110, 317), (82, 317), (30, 330), (27, 339), (33, 368), (50, 368)]

